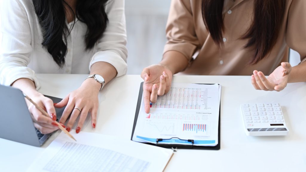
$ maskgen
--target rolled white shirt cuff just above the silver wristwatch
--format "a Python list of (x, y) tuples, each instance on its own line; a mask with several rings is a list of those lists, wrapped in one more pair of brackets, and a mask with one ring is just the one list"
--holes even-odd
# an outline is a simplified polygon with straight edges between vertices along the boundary
[(94, 56), (91, 59), (91, 62), (89, 63), (89, 70), (91, 66), (96, 62), (107, 62), (115, 67), (117, 70), (117, 76), (120, 77), (122, 75), (125, 75), (127, 71), (127, 63), (123, 58), (120, 57), (119, 54), (113, 52), (113, 51), (99, 51), (94, 54)]

